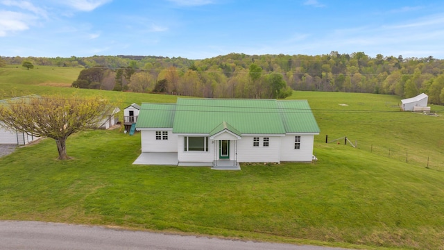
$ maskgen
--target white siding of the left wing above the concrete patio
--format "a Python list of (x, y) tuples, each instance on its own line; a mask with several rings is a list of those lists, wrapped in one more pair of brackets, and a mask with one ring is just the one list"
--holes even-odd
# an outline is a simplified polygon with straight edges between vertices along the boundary
[[(155, 131), (168, 131), (168, 140), (155, 140)], [(158, 130), (142, 130), (142, 152), (177, 152), (178, 135), (173, 134), (172, 128)]]

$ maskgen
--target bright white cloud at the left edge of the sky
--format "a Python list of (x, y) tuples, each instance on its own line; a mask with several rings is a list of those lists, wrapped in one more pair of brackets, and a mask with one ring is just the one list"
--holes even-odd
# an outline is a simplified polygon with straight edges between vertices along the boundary
[(16, 31), (25, 31), (35, 17), (20, 12), (0, 10), (0, 37)]

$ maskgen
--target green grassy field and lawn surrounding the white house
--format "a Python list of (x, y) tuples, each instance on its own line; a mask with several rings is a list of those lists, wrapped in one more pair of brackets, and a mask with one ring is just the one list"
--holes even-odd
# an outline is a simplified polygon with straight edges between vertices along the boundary
[[(37, 94), (101, 94), (121, 106), (176, 100), (57, 88), (44, 79), (5, 82), (0, 74), (3, 90), (17, 85)], [(242, 165), (240, 172), (135, 166), (139, 134), (86, 131), (67, 141), (72, 160), (56, 160), (52, 140), (0, 158), (0, 219), (364, 249), (444, 249), (443, 117), (402, 113), (393, 96), (294, 92), (291, 98), (309, 100), (321, 128), (316, 163)], [(325, 135), (348, 136), (358, 147), (343, 140), (325, 144)], [(409, 152), (408, 163), (395, 158), (398, 151)], [(421, 156), (434, 165), (414, 159)]]

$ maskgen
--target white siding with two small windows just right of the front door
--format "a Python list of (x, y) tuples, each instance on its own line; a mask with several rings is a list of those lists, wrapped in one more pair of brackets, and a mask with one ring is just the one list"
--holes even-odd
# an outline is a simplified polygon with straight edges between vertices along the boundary
[[(253, 147), (253, 137), (259, 137), (259, 147)], [(270, 138), (268, 147), (264, 147), (264, 137)], [(244, 136), (237, 142), (237, 161), (239, 163), (279, 163), (279, 136)]]

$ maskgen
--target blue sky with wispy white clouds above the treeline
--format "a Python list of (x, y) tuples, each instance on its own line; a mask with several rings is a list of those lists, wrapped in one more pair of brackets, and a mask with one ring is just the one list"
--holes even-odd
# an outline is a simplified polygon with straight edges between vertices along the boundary
[(444, 1), (0, 0), (0, 56), (444, 58)]

